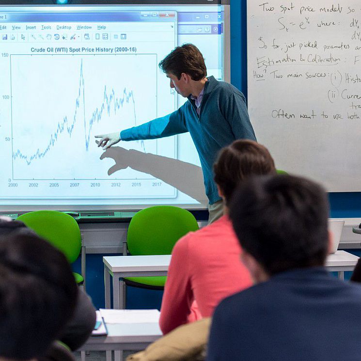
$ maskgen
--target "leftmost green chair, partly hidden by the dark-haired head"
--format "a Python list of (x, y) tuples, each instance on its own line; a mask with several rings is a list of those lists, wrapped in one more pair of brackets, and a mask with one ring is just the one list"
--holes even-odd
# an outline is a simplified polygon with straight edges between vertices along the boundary
[(85, 247), (82, 245), (80, 229), (76, 220), (58, 211), (34, 211), (17, 217), (36, 234), (45, 238), (62, 251), (73, 263), (81, 251), (81, 275), (73, 272), (75, 281), (85, 289)]

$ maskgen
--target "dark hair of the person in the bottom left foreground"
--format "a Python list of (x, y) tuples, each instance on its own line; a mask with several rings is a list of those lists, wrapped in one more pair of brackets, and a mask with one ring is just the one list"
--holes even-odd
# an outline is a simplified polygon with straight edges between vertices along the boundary
[(59, 336), (78, 287), (62, 252), (21, 226), (4, 235), (16, 226), (7, 223), (0, 227), (0, 357), (30, 360)]

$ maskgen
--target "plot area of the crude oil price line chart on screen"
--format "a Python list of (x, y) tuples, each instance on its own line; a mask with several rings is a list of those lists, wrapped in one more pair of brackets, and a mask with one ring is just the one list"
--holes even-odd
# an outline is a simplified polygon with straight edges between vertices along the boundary
[[(104, 177), (111, 160), (99, 160), (94, 135), (157, 117), (155, 54), (12, 55), (11, 69), (15, 179)], [(121, 146), (158, 154), (158, 142)], [(121, 172), (121, 179), (139, 177)]]

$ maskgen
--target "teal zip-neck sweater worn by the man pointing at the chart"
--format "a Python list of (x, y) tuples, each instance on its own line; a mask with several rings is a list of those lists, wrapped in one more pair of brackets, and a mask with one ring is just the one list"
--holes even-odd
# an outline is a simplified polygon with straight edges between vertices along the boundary
[(204, 85), (201, 112), (195, 101), (188, 101), (178, 110), (141, 126), (123, 130), (122, 141), (169, 137), (189, 132), (202, 165), (205, 193), (209, 204), (220, 200), (213, 180), (213, 163), (221, 148), (236, 139), (256, 140), (248, 116), (244, 95), (233, 85), (209, 77)]

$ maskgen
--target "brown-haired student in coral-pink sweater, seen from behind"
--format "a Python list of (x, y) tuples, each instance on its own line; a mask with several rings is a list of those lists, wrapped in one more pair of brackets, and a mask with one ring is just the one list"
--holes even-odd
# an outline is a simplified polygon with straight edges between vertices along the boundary
[(276, 173), (274, 162), (263, 145), (239, 140), (220, 151), (214, 173), (225, 215), (175, 244), (160, 310), (163, 333), (211, 316), (221, 299), (251, 286), (250, 274), (239, 262), (241, 249), (227, 215), (228, 204), (245, 178)]

